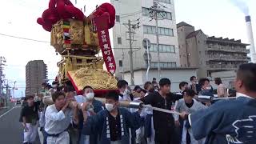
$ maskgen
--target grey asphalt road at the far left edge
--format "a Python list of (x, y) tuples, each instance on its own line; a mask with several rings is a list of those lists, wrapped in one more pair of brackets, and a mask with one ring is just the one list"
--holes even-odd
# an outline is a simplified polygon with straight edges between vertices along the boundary
[(0, 110), (0, 144), (22, 143), (23, 129), (22, 124), (18, 122), (21, 110), (21, 106)]

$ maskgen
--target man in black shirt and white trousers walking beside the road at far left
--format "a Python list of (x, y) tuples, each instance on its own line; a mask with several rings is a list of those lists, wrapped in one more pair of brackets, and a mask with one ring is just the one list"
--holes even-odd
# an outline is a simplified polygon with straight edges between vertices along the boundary
[(38, 106), (40, 102), (34, 102), (34, 97), (26, 98), (27, 105), (22, 108), (20, 122), (24, 127), (24, 141), (25, 144), (30, 144), (35, 141), (38, 130)]

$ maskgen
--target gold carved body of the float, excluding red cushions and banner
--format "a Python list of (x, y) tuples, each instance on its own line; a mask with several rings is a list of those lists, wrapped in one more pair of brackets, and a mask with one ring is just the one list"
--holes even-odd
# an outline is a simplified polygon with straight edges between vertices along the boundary
[(95, 27), (88, 20), (59, 21), (51, 30), (51, 46), (62, 61), (58, 62), (60, 83), (71, 80), (77, 90), (92, 86), (95, 90), (115, 90), (116, 79), (103, 70), (104, 59), (95, 56), (100, 47)]

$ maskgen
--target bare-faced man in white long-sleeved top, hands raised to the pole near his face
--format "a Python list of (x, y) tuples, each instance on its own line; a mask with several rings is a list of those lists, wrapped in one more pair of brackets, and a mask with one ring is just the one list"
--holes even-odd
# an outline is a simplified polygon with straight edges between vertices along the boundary
[(47, 144), (69, 144), (70, 135), (67, 132), (73, 116), (74, 124), (78, 124), (78, 103), (73, 102), (74, 110), (68, 108), (70, 101), (66, 102), (65, 94), (55, 92), (52, 94), (54, 105), (46, 109)]

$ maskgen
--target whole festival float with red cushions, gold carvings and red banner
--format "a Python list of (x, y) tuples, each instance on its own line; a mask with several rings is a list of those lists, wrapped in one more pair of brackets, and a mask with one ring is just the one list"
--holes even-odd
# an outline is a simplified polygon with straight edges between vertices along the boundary
[(50, 32), (50, 45), (62, 56), (57, 77), (61, 86), (70, 81), (78, 94), (85, 86), (92, 86), (96, 95), (117, 90), (109, 35), (115, 22), (114, 6), (103, 3), (86, 17), (70, 0), (50, 0), (37, 22)]

